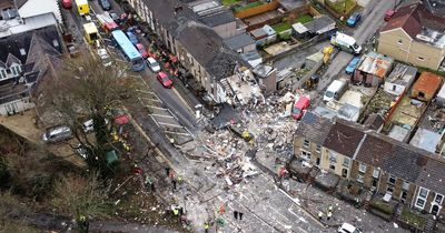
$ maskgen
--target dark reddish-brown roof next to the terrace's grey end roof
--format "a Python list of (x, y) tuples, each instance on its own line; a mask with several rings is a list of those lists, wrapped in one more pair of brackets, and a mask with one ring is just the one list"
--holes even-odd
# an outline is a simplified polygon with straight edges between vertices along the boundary
[(353, 158), (365, 133), (357, 128), (349, 126), (350, 122), (336, 119), (323, 146), (345, 156)]

